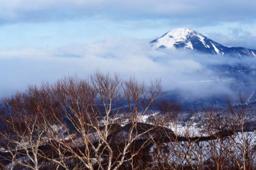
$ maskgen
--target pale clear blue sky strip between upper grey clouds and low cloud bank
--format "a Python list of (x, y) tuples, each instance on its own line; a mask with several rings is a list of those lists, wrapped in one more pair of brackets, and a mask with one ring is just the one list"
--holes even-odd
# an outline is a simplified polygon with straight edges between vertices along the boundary
[[(219, 23), (215, 26), (193, 26), (192, 29), (201, 32), (204, 35), (224, 34), (230, 38), (236, 38), (232, 35), (232, 29), (239, 29), (244, 32), (254, 33), (255, 23)], [(108, 38), (117, 38), (125, 36), (131, 39), (154, 39), (165, 32), (176, 27), (187, 26), (182, 24), (171, 24), (165, 20), (139, 20), (139, 21), (114, 21), (108, 19), (74, 19), (61, 20), (59, 22), (18, 22), (0, 25), (0, 48), (19, 48), (27, 46), (60, 47), (76, 43), (93, 43), (106, 40)], [(219, 35), (221, 36), (221, 35)], [(214, 39), (215, 36), (212, 36)], [(249, 38), (249, 40), (248, 40)], [(245, 40), (250, 41), (251, 37), (240, 39), (241, 45)], [(218, 40), (218, 39), (217, 39)], [(226, 43), (226, 42), (223, 42)], [(227, 42), (232, 45), (232, 42)], [(237, 44), (234, 43), (233, 46)], [(251, 46), (249, 46), (251, 47)]]

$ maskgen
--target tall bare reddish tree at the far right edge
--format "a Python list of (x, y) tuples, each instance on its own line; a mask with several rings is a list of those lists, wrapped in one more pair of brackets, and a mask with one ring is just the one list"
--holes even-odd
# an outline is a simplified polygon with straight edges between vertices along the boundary
[(242, 94), (239, 94), (239, 101), (232, 104), (228, 101), (228, 114), (226, 123), (229, 131), (232, 132), (229, 138), (229, 157), (239, 169), (253, 169), (253, 162), (255, 162), (255, 132), (246, 132), (249, 123), (249, 115), (251, 112), (246, 107)]

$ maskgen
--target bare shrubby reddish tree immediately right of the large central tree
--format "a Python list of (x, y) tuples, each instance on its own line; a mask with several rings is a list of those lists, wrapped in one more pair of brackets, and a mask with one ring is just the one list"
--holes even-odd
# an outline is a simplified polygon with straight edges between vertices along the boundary
[(154, 120), (161, 127), (159, 138), (153, 139), (154, 158), (163, 169), (199, 169), (203, 165), (204, 143), (193, 128), (193, 120), (184, 125), (181, 109), (175, 103), (163, 101)]

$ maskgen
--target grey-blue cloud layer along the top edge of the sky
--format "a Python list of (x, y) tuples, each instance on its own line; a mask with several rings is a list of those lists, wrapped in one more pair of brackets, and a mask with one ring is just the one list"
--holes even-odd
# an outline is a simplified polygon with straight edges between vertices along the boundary
[(49, 22), (86, 17), (111, 20), (167, 19), (214, 25), (255, 22), (252, 0), (0, 0), (0, 23)]

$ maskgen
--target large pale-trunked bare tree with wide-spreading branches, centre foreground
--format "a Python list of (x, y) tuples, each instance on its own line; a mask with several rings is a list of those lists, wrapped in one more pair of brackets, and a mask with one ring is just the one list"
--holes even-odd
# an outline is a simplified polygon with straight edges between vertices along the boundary
[(40, 152), (41, 158), (64, 169), (140, 166), (133, 158), (139, 158), (155, 128), (142, 119), (163, 93), (161, 81), (147, 86), (96, 72), (84, 80), (74, 76), (43, 84), (41, 91), (50, 103), (36, 127), (51, 150)]

